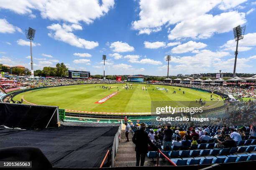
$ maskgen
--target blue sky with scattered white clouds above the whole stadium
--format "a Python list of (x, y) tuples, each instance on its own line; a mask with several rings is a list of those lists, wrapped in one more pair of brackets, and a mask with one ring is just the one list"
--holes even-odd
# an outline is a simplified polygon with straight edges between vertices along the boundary
[(169, 75), (233, 72), (232, 28), (246, 25), (237, 72), (256, 73), (256, 1), (0, 0), (0, 63), (30, 66), (25, 30), (36, 29), (34, 70)]

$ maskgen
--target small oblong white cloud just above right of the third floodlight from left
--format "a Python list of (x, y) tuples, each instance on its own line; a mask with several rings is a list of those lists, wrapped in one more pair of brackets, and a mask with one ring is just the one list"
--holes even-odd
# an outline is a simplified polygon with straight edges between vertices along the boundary
[(172, 53), (184, 53), (206, 47), (207, 45), (202, 42), (189, 41), (184, 44), (172, 48)]

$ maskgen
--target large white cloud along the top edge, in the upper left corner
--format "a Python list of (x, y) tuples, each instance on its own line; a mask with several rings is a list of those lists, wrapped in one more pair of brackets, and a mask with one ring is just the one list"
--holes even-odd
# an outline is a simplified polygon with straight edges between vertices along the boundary
[(114, 0), (0, 0), (0, 8), (14, 11), (20, 15), (35, 17), (32, 10), (39, 10), (42, 18), (62, 20), (69, 23), (90, 24), (93, 20), (108, 13)]

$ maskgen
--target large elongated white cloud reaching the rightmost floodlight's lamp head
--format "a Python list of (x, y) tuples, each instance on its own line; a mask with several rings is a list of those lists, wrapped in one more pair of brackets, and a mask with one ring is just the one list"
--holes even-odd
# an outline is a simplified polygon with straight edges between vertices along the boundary
[(245, 13), (231, 11), (220, 15), (205, 14), (178, 23), (168, 35), (170, 40), (181, 38), (209, 38), (215, 32), (229, 32), (237, 25), (246, 23)]

